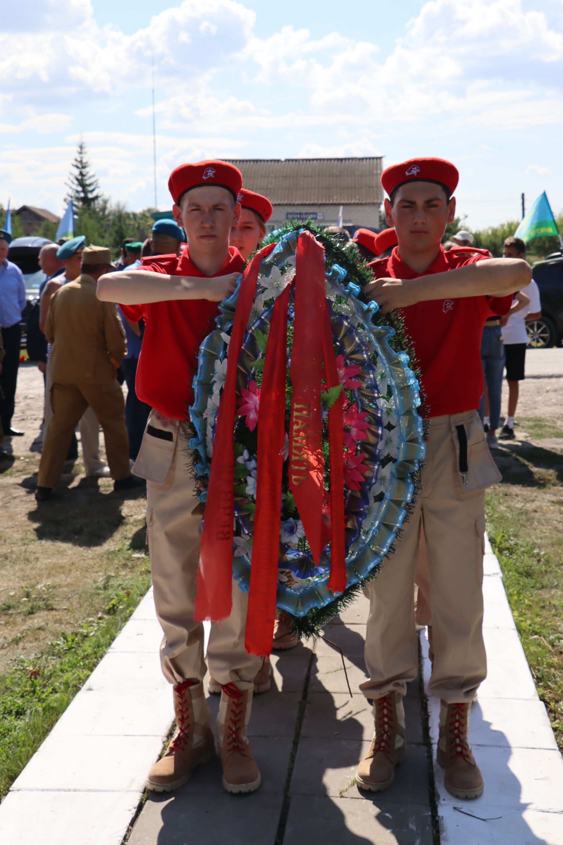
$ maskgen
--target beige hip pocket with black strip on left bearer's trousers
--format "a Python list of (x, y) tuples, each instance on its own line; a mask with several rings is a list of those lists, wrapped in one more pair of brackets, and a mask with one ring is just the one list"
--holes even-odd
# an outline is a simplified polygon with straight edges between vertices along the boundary
[(143, 434), (133, 466), (134, 475), (146, 478), (161, 490), (170, 490), (174, 481), (174, 452), (180, 423), (153, 412)]

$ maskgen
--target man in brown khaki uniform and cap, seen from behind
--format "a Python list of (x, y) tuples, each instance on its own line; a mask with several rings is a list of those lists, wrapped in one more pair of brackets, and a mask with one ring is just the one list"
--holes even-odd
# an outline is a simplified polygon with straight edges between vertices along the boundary
[(125, 331), (116, 305), (100, 303), (95, 295), (98, 278), (112, 266), (109, 249), (86, 247), (82, 274), (51, 300), (45, 334), (53, 345), (53, 417), (43, 444), (37, 501), (48, 499), (57, 486), (74, 428), (88, 406), (104, 431), (114, 490), (138, 485), (129, 468), (125, 403), (116, 379), (116, 367), (127, 351)]

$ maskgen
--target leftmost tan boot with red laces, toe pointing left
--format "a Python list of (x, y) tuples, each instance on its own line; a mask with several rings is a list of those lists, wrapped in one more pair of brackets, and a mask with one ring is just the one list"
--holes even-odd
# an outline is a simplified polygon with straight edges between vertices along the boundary
[(147, 778), (147, 788), (171, 792), (181, 787), (200, 763), (215, 756), (214, 736), (209, 727), (209, 711), (203, 684), (184, 681), (174, 687), (176, 732), (165, 755), (154, 763)]

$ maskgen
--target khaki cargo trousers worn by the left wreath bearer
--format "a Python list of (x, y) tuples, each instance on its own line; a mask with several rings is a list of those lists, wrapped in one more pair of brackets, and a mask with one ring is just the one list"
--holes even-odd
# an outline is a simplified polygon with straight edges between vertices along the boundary
[[(193, 619), (202, 514), (188, 468), (191, 453), (181, 422), (157, 411), (149, 416), (133, 472), (147, 479), (147, 530), (154, 605), (164, 631), (160, 663), (171, 684), (203, 680), (203, 623)], [(246, 653), (248, 595), (232, 585), (229, 619), (213, 622), (207, 657), (219, 684), (252, 689), (262, 662)]]

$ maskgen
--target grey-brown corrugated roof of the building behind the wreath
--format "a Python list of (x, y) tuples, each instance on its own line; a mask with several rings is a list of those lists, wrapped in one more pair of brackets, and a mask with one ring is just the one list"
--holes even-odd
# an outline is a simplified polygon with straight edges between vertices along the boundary
[(379, 204), (382, 158), (229, 159), (274, 205)]

